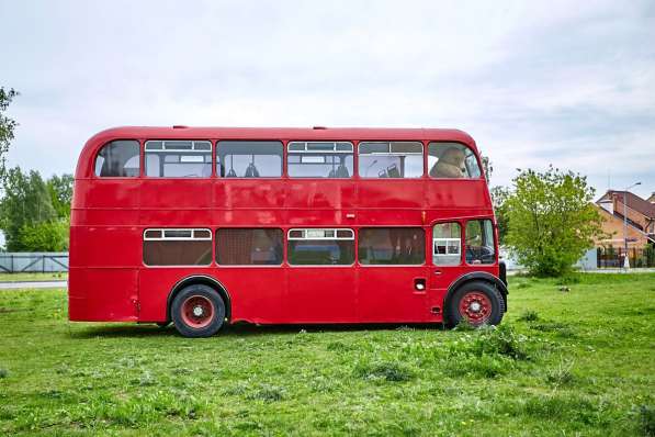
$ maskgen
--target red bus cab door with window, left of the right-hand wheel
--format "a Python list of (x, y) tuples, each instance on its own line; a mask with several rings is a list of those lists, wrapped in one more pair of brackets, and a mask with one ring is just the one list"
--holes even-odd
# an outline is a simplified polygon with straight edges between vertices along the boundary
[(443, 316), (443, 300), (449, 287), (464, 272), (462, 223), (436, 223), (431, 231), (428, 305), (432, 320)]

